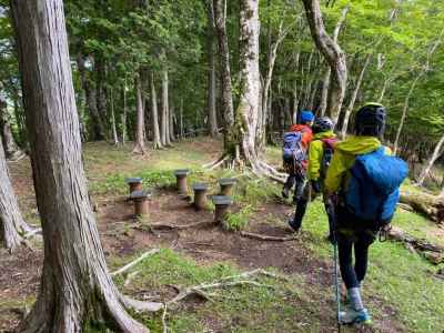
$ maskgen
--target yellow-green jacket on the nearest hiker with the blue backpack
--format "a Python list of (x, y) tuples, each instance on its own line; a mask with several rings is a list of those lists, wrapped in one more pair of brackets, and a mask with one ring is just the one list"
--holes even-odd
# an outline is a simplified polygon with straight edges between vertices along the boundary
[[(337, 143), (325, 178), (325, 189), (330, 194), (336, 193), (343, 184), (346, 184), (349, 170), (353, 167), (356, 155), (375, 151), (382, 145), (374, 137), (350, 137)], [(386, 154), (391, 154), (389, 148)]]

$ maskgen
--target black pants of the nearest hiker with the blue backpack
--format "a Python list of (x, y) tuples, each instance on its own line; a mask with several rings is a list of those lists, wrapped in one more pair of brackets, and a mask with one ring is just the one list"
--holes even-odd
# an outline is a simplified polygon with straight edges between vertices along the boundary
[[(369, 248), (376, 239), (370, 222), (362, 221), (343, 206), (336, 206), (336, 240), (342, 280), (346, 289), (359, 287), (365, 278)], [(354, 252), (354, 264), (353, 264)]]

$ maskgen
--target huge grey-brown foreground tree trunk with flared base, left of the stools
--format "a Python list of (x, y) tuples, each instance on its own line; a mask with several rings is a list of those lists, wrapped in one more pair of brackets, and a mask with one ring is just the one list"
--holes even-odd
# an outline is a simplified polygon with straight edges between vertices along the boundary
[[(44, 262), (20, 332), (148, 332), (107, 269), (83, 171), (61, 0), (12, 0)], [(95, 327), (98, 329), (98, 327)]]

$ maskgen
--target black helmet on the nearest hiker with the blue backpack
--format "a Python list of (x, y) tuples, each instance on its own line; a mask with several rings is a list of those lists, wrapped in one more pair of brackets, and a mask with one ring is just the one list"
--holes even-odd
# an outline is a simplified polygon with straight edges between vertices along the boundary
[(362, 107), (355, 117), (356, 135), (381, 137), (385, 130), (386, 111), (382, 104), (369, 103)]

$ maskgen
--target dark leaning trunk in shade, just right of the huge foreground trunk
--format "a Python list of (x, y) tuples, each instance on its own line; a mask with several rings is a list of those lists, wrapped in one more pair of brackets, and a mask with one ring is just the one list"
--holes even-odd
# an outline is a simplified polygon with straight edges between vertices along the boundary
[(80, 78), (82, 80), (83, 90), (87, 97), (87, 104), (91, 115), (92, 122), (92, 140), (100, 141), (105, 138), (104, 125), (102, 118), (99, 114), (97, 105), (97, 90), (94, 83), (88, 78), (85, 59), (82, 56), (77, 57), (77, 65), (79, 69)]

